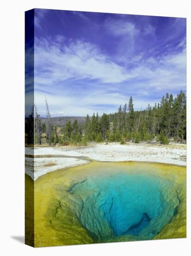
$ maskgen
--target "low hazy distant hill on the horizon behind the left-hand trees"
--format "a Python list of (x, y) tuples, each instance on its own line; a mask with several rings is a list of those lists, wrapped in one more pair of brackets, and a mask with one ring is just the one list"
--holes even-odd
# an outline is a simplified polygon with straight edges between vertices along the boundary
[[(78, 124), (83, 124), (85, 122), (85, 116), (59, 116), (59, 117), (52, 117), (51, 122), (56, 125), (57, 127), (63, 126), (66, 122), (67, 119), (70, 119), (71, 123), (77, 119)], [(41, 118), (42, 123), (47, 123), (47, 118)]]

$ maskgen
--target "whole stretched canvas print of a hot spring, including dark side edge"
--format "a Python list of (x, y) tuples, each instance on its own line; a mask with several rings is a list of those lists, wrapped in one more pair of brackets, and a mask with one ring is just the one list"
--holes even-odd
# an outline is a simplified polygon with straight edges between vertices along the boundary
[(25, 243), (186, 237), (186, 19), (25, 12)]

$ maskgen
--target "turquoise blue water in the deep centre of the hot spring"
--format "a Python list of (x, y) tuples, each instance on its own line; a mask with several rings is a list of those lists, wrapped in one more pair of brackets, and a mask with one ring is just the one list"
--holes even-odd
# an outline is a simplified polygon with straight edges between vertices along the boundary
[[(68, 192), (76, 201), (76, 216), (100, 241), (128, 235), (151, 239), (171, 221), (179, 203), (170, 181), (120, 170), (92, 175)], [(169, 192), (173, 202), (167, 199)]]

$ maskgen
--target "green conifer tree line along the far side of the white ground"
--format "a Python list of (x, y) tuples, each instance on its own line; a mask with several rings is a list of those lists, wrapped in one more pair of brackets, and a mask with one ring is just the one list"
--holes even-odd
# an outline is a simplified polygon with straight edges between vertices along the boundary
[[(121, 144), (132, 140), (151, 141), (156, 138), (162, 144), (168, 144), (169, 138), (182, 142), (186, 140), (186, 94), (180, 91), (173, 99), (172, 94), (166, 94), (153, 107), (149, 104), (145, 110), (134, 110), (132, 96), (129, 101), (118, 108), (113, 114), (92, 117), (86, 116), (84, 124), (78, 124), (70, 118), (61, 128), (51, 124), (48, 103), (46, 101), (48, 122), (41, 123), (36, 109), (35, 115), (35, 142), (41, 143), (42, 134), (46, 134), (47, 142), (51, 144), (79, 144), (86, 145), (88, 141), (119, 141)], [(31, 115), (32, 116), (32, 115)]]

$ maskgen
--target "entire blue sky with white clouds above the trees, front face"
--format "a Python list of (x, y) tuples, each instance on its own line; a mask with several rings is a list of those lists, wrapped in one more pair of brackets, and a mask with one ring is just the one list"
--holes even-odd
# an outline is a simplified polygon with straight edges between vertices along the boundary
[(45, 115), (135, 109), (186, 89), (186, 19), (35, 9), (35, 102)]

